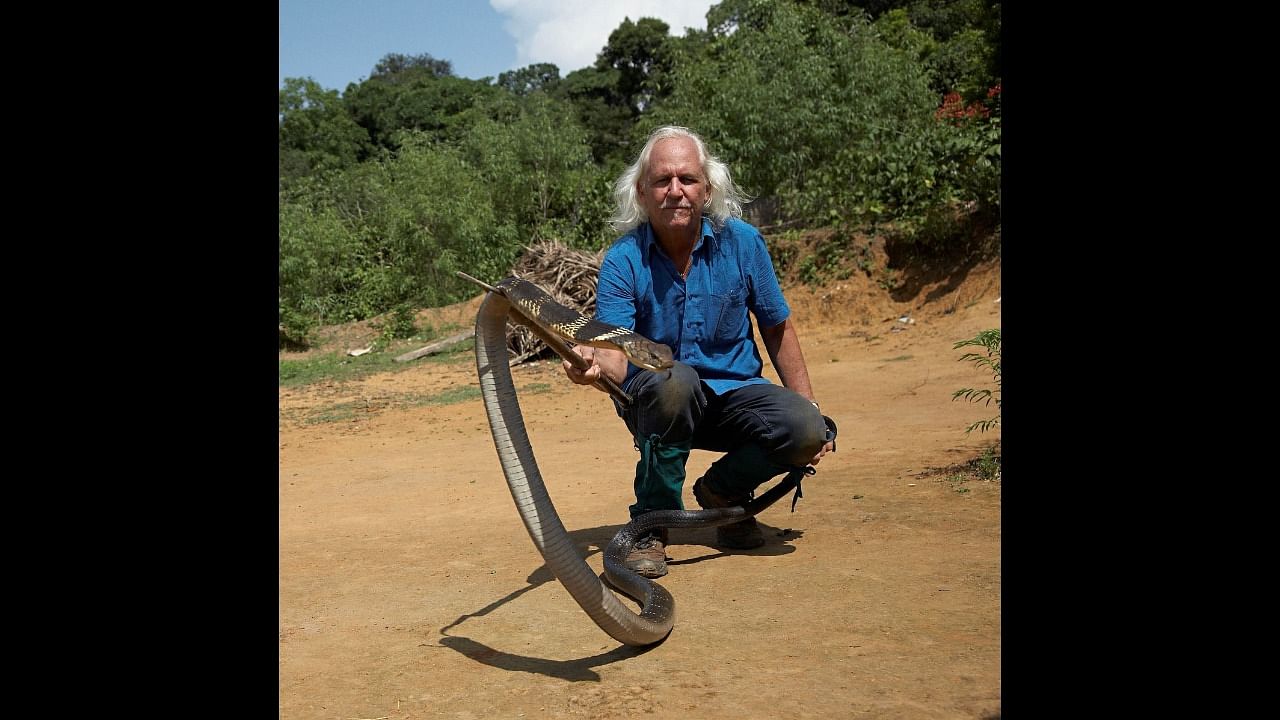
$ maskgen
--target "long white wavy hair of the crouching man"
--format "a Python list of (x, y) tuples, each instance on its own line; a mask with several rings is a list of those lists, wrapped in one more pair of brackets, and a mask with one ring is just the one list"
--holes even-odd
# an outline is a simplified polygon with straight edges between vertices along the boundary
[(687, 137), (694, 141), (694, 147), (698, 149), (698, 161), (701, 164), (703, 174), (707, 176), (709, 197), (707, 205), (703, 206), (703, 214), (710, 215), (712, 224), (722, 227), (730, 218), (742, 217), (742, 204), (750, 197), (733, 183), (728, 165), (708, 152), (707, 143), (694, 131), (680, 126), (663, 126), (649, 133), (649, 141), (640, 150), (640, 156), (613, 183), (613, 200), (617, 202), (617, 209), (609, 218), (609, 223), (613, 224), (614, 231), (626, 233), (649, 220), (649, 214), (640, 204), (636, 183), (649, 172), (649, 156), (653, 154), (653, 146), (659, 140), (672, 137)]

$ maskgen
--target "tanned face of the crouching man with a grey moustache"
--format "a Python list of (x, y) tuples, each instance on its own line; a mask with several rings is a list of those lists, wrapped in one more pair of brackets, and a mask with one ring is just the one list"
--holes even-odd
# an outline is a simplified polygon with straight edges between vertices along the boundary
[(636, 190), (658, 237), (696, 233), (690, 228), (701, 227), (709, 190), (694, 141), (687, 137), (659, 140), (649, 155), (649, 172), (636, 183)]

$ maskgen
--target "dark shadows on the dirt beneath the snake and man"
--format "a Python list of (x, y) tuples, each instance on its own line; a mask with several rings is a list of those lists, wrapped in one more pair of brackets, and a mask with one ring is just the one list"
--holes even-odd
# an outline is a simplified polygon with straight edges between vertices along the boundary
[[(600, 525), (596, 528), (586, 528), (580, 530), (570, 530), (568, 536), (573, 541), (573, 544), (579, 548), (585, 547), (584, 557), (589, 559), (593, 555), (604, 552), (613, 536), (622, 529), (622, 525)], [(760, 523), (760, 530), (764, 533), (765, 543), (763, 547), (755, 550), (740, 550), (735, 553), (742, 555), (786, 555), (795, 552), (795, 548), (785, 544), (785, 541), (799, 538), (804, 534), (803, 530), (794, 530), (787, 528), (786, 533), (778, 528), (771, 528), (764, 523)], [(695, 529), (673, 529), (671, 530), (672, 544), (708, 544), (710, 546), (714, 541), (716, 530), (714, 528), (695, 528)], [(728, 555), (727, 552), (716, 551), (699, 557), (690, 557), (687, 560), (673, 560), (667, 562), (667, 565), (690, 565), (694, 562), (704, 562), (707, 560), (714, 560)], [(489, 605), (476, 610), (475, 612), (466, 612), (460, 615), (457, 620), (449, 623), (448, 625), (440, 628), (440, 634), (444, 635), (439, 641), (440, 647), (447, 647), (460, 655), (474, 660), (476, 662), (488, 665), (490, 667), (498, 667), (500, 670), (509, 670), (513, 673), (532, 673), (536, 675), (548, 675), (550, 678), (559, 678), (562, 680), (571, 682), (600, 682), (599, 673), (594, 671), (593, 667), (599, 667), (603, 665), (609, 665), (620, 660), (627, 660), (630, 657), (639, 657), (653, 648), (662, 644), (664, 641), (659, 641), (652, 646), (645, 647), (632, 647), (632, 646), (618, 646), (608, 652), (602, 652), (593, 655), (590, 657), (581, 657), (577, 660), (549, 660), (545, 657), (534, 657), (530, 655), (518, 655), (513, 652), (506, 652), (494, 647), (489, 647), (481, 642), (474, 641), (466, 635), (449, 634), (449, 630), (457, 628), (462, 623), (471, 618), (481, 618), (493, 612), (494, 610), (517, 600), (520, 596), (535, 589), (544, 583), (554, 582), (556, 575), (552, 574), (547, 565), (540, 565), (536, 570), (529, 574), (526, 578), (527, 585), (518, 588), (507, 593), (506, 596), (490, 602)], [(625, 598), (625, 602), (630, 602), (630, 598), (621, 593), (616, 593)], [(582, 616), (584, 623), (590, 623), (590, 619), (585, 615)]]

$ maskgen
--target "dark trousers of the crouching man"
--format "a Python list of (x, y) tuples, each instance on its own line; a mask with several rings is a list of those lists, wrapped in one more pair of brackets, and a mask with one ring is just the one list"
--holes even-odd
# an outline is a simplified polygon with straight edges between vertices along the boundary
[[(637, 373), (623, 389), (634, 402), (623, 409), (614, 401), (614, 409), (635, 436), (637, 446), (652, 441), (742, 455), (733, 451), (754, 445), (758, 450), (753, 455), (763, 452), (768, 462), (746, 473), (735, 473), (748, 475), (735, 483), (737, 489), (749, 486), (746, 492), (783, 471), (804, 468), (822, 450), (827, 437), (822, 414), (796, 392), (762, 383), (716, 395), (684, 363), (676, 363), (662, 373)], [(724, 460), (732, 460), (732, 455)], [(680, 459), (681, 479), (685, 460), (687, 454)], [(680, 507), (678, 492), (673, 501), (664, 505)]]

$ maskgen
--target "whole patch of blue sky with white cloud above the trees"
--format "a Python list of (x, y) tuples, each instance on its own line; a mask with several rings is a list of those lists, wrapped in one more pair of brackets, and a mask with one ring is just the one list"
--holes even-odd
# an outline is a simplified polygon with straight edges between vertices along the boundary
[(280, 0), (280, 82), (311, 77), (328, 90), (369, 77), (384, 55), (453, 63), (479, 79), (531, 63), (561, 77), (595, 61), (625, 17), (662, 18), (672, 35), (704, 28), (712, 0)]

